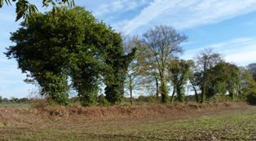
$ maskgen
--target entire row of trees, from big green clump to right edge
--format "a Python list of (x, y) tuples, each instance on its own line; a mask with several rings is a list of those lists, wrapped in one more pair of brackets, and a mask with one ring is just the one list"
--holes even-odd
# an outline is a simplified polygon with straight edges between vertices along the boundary
[[(11, 33), (15, 45), (7, 48), (6, 55), (17, 60), (27, 73), (25, 82), (38, 85), (51, 104), (68, 105), (71, 89), (83, 106), (97, 104), (99, 98), (120, 104), (125, 90), (131, 104), (134, 90), (153, 91), (162, 103), (183, 102), (185, 86), (201, 103), (214, 95), (227, 94), (235, 100), (254, 94), (255, 68), (227, 63), (210, 49), (195, 60), (179, 59), (187, 38), (161, 25), (123, 39), (82, 7), (55, 7), (28, 15)], [(101, 87), (104, 95), (98, 97)]]

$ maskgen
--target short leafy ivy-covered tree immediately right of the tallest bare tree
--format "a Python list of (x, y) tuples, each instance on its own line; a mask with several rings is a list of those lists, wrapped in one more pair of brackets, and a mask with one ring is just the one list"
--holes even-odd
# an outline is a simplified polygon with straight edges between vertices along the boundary
[(188, 82), (192, 64), (192, 60), (186, 61), (184, 59), (173, 59), (170, 61), (168, 70), (170, 71), (170, 82), (173, 85), (173, 94), (170, 100), (171, 103), (174, 101), (175, 93), (177, 93), (179, 102), (184, 101), (184, 85)]

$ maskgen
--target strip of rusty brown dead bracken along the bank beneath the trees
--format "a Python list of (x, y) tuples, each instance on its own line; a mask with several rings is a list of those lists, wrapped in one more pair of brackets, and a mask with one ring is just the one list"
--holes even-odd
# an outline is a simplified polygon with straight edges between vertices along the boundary
[(218, 112), (225, 109), (245, 108), (246, 106), (245, 103), (113, 105), (87, 108), (77, 105), (71, 107), (38, 105), (34, 108), (0, 108), (0, 120), (4, 125), (14, 125), (33, 124), (49, 120), (114, 121), (127, 118), (177, 118), (201, 112)]

